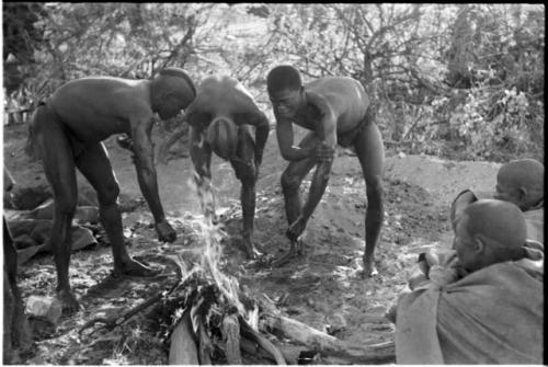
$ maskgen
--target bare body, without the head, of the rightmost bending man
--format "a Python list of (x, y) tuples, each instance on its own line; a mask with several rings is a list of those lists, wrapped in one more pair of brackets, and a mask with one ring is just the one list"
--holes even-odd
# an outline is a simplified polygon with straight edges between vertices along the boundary
[[(331, 174), (338, 138), (357, 128), (366, 117), (369, 98), (361, 83), (351, 78), (318, 79), (298, 90), (285, 89), (270, 95), (276, 116), (276, 134), (282, 157), (289, 161), (282, 175), (282, 187), (292, 241), (289, 253), (277, 261), (282, 264), (301, 252), (299, 237), (320, 202)], [(294, 145), (293, 124), (310, 133)], [(362, 165), (366, 182), (366, 238), (364, 276), (375, 273), (374, 251), (384, 216), (381, 173), (384, 146), (380, 133), (373, 123), (364, 124), (351, 141)], [(316, 165), (305, 204), (299, 186)]]

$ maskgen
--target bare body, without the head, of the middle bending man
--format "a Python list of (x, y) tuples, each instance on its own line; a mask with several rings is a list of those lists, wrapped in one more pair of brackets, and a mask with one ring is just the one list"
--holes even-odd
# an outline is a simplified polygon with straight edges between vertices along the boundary
[[(225, 159), (230, 161), (236, 176), (241, 182), (242, 238), (248, 257), (256, 259), (260, 253), (253, 243), (255, 183), (269, 138), (269, 119), (259, 110), (251, 94), (236, 79), (216, 76), (206, 78), (197, 88), (196, 99), (185, 111), (185, 119), (191, 126), (191, 159), (197, 174), (194, 179), (198, 185), (204, 183), (205, 177), (212, 179), (212, 147), (206, 133), (215, 118), (231, 121), (239, 127), (237, 152), (233, 157)], [(250, 126), (255, 127), (255, 141)], [(184, 133), (184, 129), (181, 129), (170, 137), (162, 146), (163, 154)], [(162, 160), (164, 157), (160, 157), (160, 161)], [(209, 210), (215, 211), (215, 208)]]

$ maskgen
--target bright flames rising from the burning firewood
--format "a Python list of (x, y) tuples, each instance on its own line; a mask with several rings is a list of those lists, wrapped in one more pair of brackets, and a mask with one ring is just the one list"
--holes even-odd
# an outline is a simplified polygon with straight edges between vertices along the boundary
[(246, 308), (238, 297), (238, 279), (227, 276), (219, 271), (222, 255), (220, 242), (227, 234), (220, 225), (214, 223), (215, 197), (210, 179), (201, 177), (194, 172), (194, 176), (189, 180), (189, 186), (197, 194), (204, 215), (203, 220), (198, 222), (204, 241), (204, 251), (201, 259), (202, 271), (206, 276), (209, 275), (213, 277), (213, 280), (227, 300), (237, 307), (240, 314), (246, 316)]

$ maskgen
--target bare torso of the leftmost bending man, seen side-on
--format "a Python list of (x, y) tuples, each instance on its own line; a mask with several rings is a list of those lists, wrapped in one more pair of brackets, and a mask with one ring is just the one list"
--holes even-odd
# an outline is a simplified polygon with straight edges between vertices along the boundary
[(111, 77), (82, 78), (60, 87), (49, 104), (81, 141), (101, 141), (130, 133), (130, 121), (151, 118), (147, 80)]

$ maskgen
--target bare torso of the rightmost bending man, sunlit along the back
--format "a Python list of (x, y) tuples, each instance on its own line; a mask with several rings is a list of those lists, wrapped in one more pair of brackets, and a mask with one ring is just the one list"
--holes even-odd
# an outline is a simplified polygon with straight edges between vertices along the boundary
[(321, 110), (315, 101), (323, 100), (336, 117), (336, 133), (350, 131), (362, 123), (369, 98), (363, 85), (352, 78), (326, 77), (305, 84), (308, 105), (299, 111), (294, 123), (307, 129), (315, 129), (318, 119), (322, 118)]

